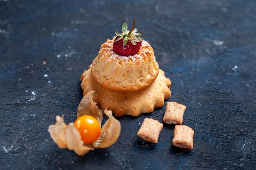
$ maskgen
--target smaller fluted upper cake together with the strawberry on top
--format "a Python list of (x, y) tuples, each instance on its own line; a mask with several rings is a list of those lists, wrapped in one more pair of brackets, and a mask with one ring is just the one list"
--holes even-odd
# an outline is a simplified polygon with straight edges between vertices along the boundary
[[(135, 28), (122, 26), (122, 33), (101, 45), (98, 56), (92, 62), (92, 76), (103, 87), (119, 92), (145, 89), (158, 75), (158, 63), (153, 48), (144, 41)], [(135, 29), (134, 29), (135, 28)]]

